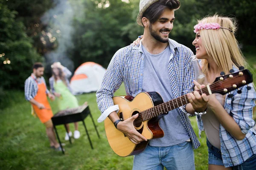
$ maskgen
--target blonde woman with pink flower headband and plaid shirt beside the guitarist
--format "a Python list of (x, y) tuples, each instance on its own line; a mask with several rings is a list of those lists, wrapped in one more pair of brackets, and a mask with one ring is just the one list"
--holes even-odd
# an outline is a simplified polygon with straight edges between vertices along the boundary
[[(192, 42), (196, 56), (201, 59), (202, 71), (209, 83), (219, 77), (220, 72), (238, 71), (239, 66), (247, 67), (235, 37), (236, 25), (233, 19), (218, 15), (198, 20)], [(137, 43), (137, 42), (135, 42)], [(202, 87), (194, 81), (196, 88)], [(220, 94), (202, 96), (188, 94), (186, 111), (197, 115), (199, 135), (204, 130), (207, 136), (209, 170), (255, 170), (256, 132), (253, 130), (253, 108), (256, 92), (253, 84), (233, 91), (233, 97)]]

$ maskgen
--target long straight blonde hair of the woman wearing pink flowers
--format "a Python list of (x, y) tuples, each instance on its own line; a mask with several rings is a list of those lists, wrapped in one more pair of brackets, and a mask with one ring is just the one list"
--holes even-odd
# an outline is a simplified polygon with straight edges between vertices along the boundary
[[(226, 74), (229, 70), (239, 66), (248, 67), (244, 55), (239, 49), (238, 41), (236, 40), (236, 20), (230, 17), (223, 17), (215, 14), (214, 16), (207, 16), (198, 23), (218, 23), (223, 29), (202, 29), (200, 30), (202, 43), (204, 48), (212, 60), (218, 65), (221, 71)], [(206, 59), (202, 59), (202, 71), (207, 76), (209, 63)]]

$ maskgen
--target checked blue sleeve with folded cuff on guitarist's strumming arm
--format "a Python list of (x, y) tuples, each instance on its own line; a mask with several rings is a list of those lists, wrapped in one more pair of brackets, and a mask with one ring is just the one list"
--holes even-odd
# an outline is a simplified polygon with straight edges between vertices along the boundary
[[(101, 116), (98, 121), (103, 121), (111, 112), (119, 109), (118, 107), (112, 107), (114, 106), (112, 99), (113, 94), (122, 84), (122, 76), (118, 65), (118, 56), (119, 51), (117, 51), (111, 59), (107, 71), (102, 79), (101, 87), (96, 92), (98, 108), (101, 113), (104, 113), (104, 116)], [(110, 107), (112, 108), (108, 109)], [(106, 111), (107, 109), (111, 110), (111, 112)]]

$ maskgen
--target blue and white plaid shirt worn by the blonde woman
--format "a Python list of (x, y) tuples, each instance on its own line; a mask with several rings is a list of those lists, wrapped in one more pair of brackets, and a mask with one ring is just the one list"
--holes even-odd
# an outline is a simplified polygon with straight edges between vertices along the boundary
[[(233, 70), (238, 71), (233, 67)], [(242, 133), (246, 134), (243, 140), (236, 140), (222, 125), (219, 128), (219, 136), (221, 141), (221, 154), (225, 167), (233, 167), (246, 161), (250, 156), (256, 154), (256, 132), (253, 130), (255, 124), (253, 120), (253, 107), (255, 106), (256, 92), (253, 84), (249, 84), (251, 90), (247, 90), (246, 86), (240, 88), (241, 94), (237, 90), (231, 92), (234, 96), (232, 99), (225, 99), (224, 109), (233, 117), (239, 125)], [(197, 116), (199, 136), (204, 130), (201, 116)]]

